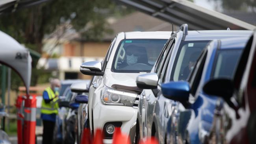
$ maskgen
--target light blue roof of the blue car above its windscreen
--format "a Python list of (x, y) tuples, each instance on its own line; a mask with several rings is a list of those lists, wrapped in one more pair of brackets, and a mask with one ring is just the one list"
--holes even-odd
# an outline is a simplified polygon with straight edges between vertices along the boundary
[(221, 39), (220, 49), (245, 48), (249, 39), (250, 37), (235, 37), (235, 38)]

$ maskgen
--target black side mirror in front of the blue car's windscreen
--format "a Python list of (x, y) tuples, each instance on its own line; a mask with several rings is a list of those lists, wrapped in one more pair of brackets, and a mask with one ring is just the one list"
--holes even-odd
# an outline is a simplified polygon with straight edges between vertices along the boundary
[(203, 91), (209, 95), (220, 96), (227, 101), (233, 95), (234, 83), (230, 79), (213, 79), (204, 85)]

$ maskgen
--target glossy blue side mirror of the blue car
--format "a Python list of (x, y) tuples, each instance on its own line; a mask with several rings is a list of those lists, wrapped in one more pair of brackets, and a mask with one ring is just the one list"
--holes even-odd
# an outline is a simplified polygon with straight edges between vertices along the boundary
[(190, 93), (189, 83), (187, 81), (171, 81), (161, 85), (162, 94), (165, 98), (179, 102), (187, 102)]

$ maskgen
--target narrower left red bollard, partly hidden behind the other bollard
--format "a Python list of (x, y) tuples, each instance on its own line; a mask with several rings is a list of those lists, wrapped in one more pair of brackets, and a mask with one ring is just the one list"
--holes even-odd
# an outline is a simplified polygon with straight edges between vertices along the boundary
[(23, 98), (22, 96), (18, 96), (17, 100), (16, 100), (16, 104), (15, 106), (17, 107), (17, 137), (18, 137), (18, 144), (22, 144), (23, 143), (23, 135), (22, 135), (22, 123), (23, 123), (23, 119), (24, 119), (24, 116), (23, 116), (23, 105), (22, 105), (22, 102), (23, 102)]

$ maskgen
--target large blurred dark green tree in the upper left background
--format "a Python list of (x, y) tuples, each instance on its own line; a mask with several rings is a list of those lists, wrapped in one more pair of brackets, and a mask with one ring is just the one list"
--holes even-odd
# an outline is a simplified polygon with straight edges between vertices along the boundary
[[(0, 15), (0, 30), (11, 35), (18, 42), (42, 53), (42, 40), (56, 28), (69, 24), (84, 39), (100, 40), (104, 33), (111, 33), (106, 18), (124, 15), (129, 9), (117, 6), (112, 0), (51, 0), (29, 8)], [(63, 29), (63, 33), (66, 29)], [(32, 83), (35, 85), (41, 70), (35, 68), (33, 61)], [(22, 84), (13, 74), (13, 86)]]

